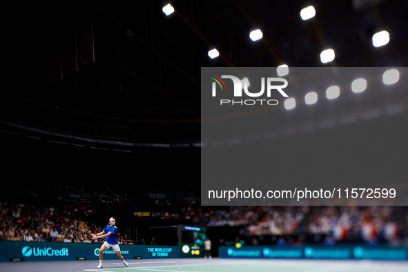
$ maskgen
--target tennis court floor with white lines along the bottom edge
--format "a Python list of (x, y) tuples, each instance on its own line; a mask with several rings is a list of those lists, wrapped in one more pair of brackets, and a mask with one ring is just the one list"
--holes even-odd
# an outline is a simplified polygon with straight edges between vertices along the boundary
[(77, 262), (19, 262), (1, 263), (0, 270), (7, 271), (168, 271), (168, 272), (407, 272), (408, 262), (370, 260), (225, 260), (225, 259), (170, 259), (163, 261), (128, 260), (129, 267), (115, 260), (104, 261), (104, 268), (97, 269), (98, 261)]

